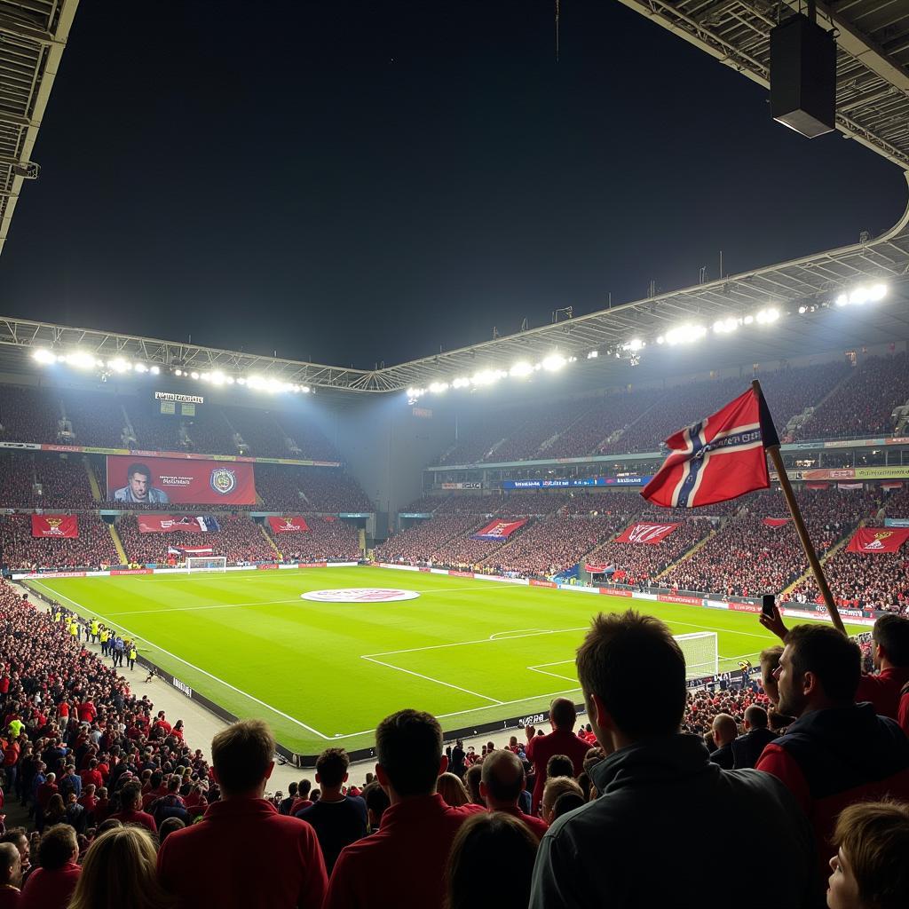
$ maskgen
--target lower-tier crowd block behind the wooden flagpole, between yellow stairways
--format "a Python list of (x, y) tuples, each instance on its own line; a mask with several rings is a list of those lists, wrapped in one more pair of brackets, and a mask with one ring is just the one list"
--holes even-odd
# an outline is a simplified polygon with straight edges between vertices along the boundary
[[(822, 556), (874, 507), (861, 492), (806, 490), (797, 498), (814, 549)], [(807, 571), (783, 494), (766, 492), (744, 499), (740, 514), (676, 564), (664, 582), (683, 590), (754, 597), (778, 593)]]

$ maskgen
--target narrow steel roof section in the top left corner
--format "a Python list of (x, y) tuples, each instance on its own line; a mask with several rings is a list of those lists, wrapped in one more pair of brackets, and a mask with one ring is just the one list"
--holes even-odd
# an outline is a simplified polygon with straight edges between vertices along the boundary
[(79, 0), (0, 0), (0, 253)]

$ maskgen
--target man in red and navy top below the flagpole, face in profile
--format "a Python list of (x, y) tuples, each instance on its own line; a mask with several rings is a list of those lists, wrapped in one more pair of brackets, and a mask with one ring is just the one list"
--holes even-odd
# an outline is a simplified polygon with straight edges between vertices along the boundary
[(844, 807), (886, 795), (909, 799), (909, 742), (872, 704), (854, 703), (861, 674), (858, 647), (835, 628), (795, 625), (775, 675), (780, 709), (796, 720), (757, 762), (811, 820), (824, 867)]

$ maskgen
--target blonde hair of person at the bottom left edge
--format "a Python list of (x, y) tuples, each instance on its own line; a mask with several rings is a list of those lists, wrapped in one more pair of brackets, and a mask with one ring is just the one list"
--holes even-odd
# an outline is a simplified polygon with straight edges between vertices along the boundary
[(169, 909), (175, 901), (158, 883), (156, 864), (144, 827), (108, 830), (85, 854), (69, 909)]

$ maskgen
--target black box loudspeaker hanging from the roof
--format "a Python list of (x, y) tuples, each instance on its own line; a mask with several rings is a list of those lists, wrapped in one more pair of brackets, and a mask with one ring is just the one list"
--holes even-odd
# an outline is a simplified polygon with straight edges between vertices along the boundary
[(836, 42), (801, 13), (770, 32), (774, 120), (814, 139), (836, 128)]

